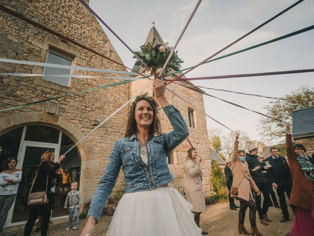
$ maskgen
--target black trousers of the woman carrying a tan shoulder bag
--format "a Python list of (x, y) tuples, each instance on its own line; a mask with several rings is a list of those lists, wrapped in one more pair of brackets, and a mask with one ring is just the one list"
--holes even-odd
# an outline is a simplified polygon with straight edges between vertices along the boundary
[(40, 224), (41, 236), (47, 236), (49, 220), (51, 215), (50, 203), (29, 207), (29, 216), (24, 228), (24, 236), (30, 236), (31, 230), (39, 214), (42, 215), (43, 217)]

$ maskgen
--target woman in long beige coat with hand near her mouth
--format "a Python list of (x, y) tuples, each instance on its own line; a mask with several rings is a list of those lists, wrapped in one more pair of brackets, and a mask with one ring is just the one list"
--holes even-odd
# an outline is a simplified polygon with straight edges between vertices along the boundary
[[(195, 148), (187, 150), (187, 157), (184, 163), (184, 191), (187, 201), (193, 206), (192, 212), (198, 227), (200, 227), (200, 215), (206, 210), (201, 161), (202, 158), (197, 155)], [(202, 231), (202, 235), (207, 234), (208, 232)]]

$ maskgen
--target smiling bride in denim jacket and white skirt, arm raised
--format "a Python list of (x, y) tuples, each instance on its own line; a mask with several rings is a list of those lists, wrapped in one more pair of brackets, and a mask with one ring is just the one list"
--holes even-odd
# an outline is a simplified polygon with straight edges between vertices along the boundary
[(167, 156), (188, 136), (180, 112), (165, 97), (165, 85), (153, 84), (156, 100), (172, 124), (163, 134), (156, 102), (147, 94), (132, 103), (125, 138), (113, 146), (103, 177), (96, 188), (81, 236), (92, 235), (122, 166), (126, 193), (112, 217), (107, 236), (200, 236), (192, 206), (168, 183), (173, 180)]

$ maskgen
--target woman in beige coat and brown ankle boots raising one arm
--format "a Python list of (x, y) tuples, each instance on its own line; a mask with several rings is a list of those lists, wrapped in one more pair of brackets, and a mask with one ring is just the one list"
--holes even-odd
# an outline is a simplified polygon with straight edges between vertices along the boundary
[[(238, 150), (238, 138), (239, 135), (236, 134), (235, 145), (231, 159), (233, 182), (230, 190), (231, 197), (240, 201), (238, 231), (240, 234), (243, 233), (245, 235), (262, 236), (256, 227), (257, 207), (253, 199), (252, 189), (256, 192), (257, 195), (260, 195), (261, 193), (250, 175), (248, 164), (245, 161), (245, 151)], [(251, 233), (247, 232), (244, 228), (244, 218), (247, 207), (250, 208), (249, 218), (251, 223)]]

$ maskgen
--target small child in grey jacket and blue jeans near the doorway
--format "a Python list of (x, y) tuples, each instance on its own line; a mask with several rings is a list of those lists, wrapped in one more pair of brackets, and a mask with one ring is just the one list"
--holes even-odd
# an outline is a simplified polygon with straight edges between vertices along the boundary
[(78, 210), (80, 209), (81, 198), (80, 198), (80, 194), (77, 188), (78, 188), (77, 182), (71, 183), (72, 190), (68, 193), (67, 198), (65, 200), (64, 209), (68, 208), (68, 205), (69, 205), (69, 214), (70, 214), (68, 228), (66, 228), (66, 230), (70, 230), (72, 228), (73, 216), (75, 220), (75, 226), (72, 229), (77, 230), (79, 227)]

